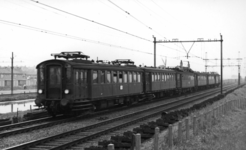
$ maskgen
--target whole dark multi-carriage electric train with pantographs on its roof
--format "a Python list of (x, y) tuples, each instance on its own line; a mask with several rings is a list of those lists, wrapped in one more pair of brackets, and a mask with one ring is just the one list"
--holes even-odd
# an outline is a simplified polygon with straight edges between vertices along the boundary
[[(137, 67), (131, 60), (104, 63), (82, 52), (53, 54), (37, 65), (37, 106), (51, 114), (77, 114), (154, 97), (192, 92), (220, 84), (220, 75), (189, 67)], [(65, 58), (65, 59), (57, 59)]]

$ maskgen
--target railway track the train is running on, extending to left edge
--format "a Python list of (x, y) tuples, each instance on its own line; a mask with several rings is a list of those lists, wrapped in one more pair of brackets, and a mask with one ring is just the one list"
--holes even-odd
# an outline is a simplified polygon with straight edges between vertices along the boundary
[[(208, 91), (210, 90), (212, 89), (209, 89)], [(201, 92), (194, 93), (190, 98), (200, 95), (200, 94)], [(159, 101), (161, 101), (161, 99)], [(173, 98), (168, 98), (165, 101), (173, 101)], [(158, 100), (155, 100), (155, 102), (157, 103)], [(145, 103), (138, 103), (137, 105), (132, 105), (127, 108), (121, 107), (121, 108), (116, 108), (116, 109), (111, 109), (111, 110), (106, 110), (106, 111), (100, 111), (90, 116), (79, 116), (79, 117), (73, 117), (73, 118), (65, 118), (65, 117), (59, 116), (55, 119), (52, 117), (46, 117), (46, 118), (35, 119), (31, 121), (25, 121), (21, 123), (15, 123), (11, 125), (0, 126), (0, 137), (7, 137), (11, 135), (20, 134), (20, 133), (30, 132), (33, 130), (43, 129), (43, 128), (55, 126), (55, 125), (62, 124), (62, 123), (72, 122), (76, 120), (81, 121), (82, 119), (87, 119), (88, 117), (95, 117), (97, 115), (105, 115), (105, 114), (109, 114), (112, 112), (118, 112), (121, 110), (131, 109), (132, 107), (147, 105), (149, 103), (153, 103), (153, 101), (147, 101)]]

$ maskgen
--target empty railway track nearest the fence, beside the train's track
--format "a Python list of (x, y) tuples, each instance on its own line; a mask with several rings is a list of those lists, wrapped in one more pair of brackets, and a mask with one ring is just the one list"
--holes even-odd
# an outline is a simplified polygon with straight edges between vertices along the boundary
[[(235, 87), (227, 87), (225, 90), (230, 90)], [(206, 98), (211, 95), (218, 94), (219, 89), (210, 90), (207, 93), (200, 93), (196, 96), (179, 98), (166, 100), (162, 105), (158, 105), (155, 107), (151, 107), (148, 109), (144, 109), (135, 113), (127, 114), (124, 116), (116, 117), (113, 119), (109, 119), (106, 121), (101, 121), (96, 124), (92, 124), (83, 128), (79, 128), (76, 130), (72, 130), (69, 132), (65, 132), (59, 135), (50, 136), (47, 138), (42, 138), (39, 140), (31, 141), (28, 143), (24, 143), (21, 145), (13, 146), (7, 148), (6, 150), (12, 149), (65, 149), (72, 147), (74, 145), (78, 145), (80, 143), (85, 143), (86, 141), (92, 140), (99, 136), (108, 134), (110, 132), (116, 131), (120, 128), (124, 128), (129, 125), (133, 125), (137, 122), (146, 120), (151, 117), (158, 116), (163, 111), (169, 111), (187, 104), (191, 102), (195, 102), (197, 100), (201, 100), (202, 98)]]

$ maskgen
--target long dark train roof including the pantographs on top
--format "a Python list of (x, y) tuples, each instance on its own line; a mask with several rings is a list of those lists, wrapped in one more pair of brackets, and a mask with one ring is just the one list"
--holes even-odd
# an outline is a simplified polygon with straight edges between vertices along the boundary
[[(137, 67), (134, 65), (134, 61), (130, 59), (116, 59), (114, 61), (103, 61), (103, 60), (88, 60), (90, 56), (83, 54), (81, 51), (64, 51), (61, 53), (51, 54), (51, 56), (54, 56), (54, 59), (46, 60), (37, 65), (36, 68), (38, 68), (41, 64), (49, 63), (49, 62), (59, 62), (59, 63), (67, 63), (70, 64), (73, 67), (80, 68), (81, 65), (83, 65), (84, 68), (89, 69), (113, 69), (113, 70), (136, 70), (136, 71), (149, 71), (149, 72), (169, 72), (169, 73), (196, 73), (196, 74), (202, 74), (202, 75), (219, 75), (215, 72), (195, 72), (190, 67), (183, 67), (177, 66), (174, 68), (157, 68), (157, 67)], [(57, 59), (57, 58), (65, 58), (64, 59)]]

